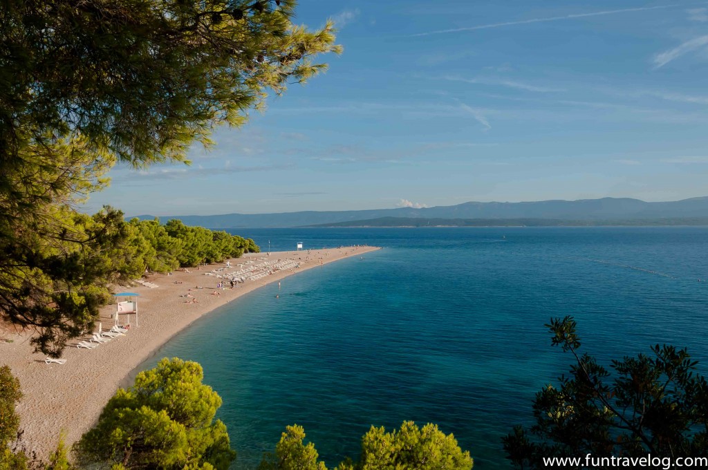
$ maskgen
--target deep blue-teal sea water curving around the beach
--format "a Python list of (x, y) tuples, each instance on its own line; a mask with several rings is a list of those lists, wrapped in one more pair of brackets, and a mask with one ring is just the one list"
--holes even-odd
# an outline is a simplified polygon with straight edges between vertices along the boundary
[(501, 436), (530, 422), (535, 393), (571, 363), (550, 346), (552, 316), (575, 316), (583, 350), (605, 364), (673, 343), (708, 372), (708, 227), (235, 233), (263, 251), (384, 247), (252, 292), (142, 366), (202, 364), (236, 469), (254, 468), (288, 424), (333, 467), (370, 425), (404, 420), (453, 432), (476, 469), (508, 469)]

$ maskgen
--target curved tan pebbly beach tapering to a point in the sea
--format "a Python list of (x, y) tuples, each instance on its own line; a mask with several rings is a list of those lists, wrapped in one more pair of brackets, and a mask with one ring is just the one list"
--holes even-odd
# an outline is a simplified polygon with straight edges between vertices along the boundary
[[(55, 449), (59, 432), (66, 432), (67, 444), (78, 440), (96, 422), (103, 406), (124, 384), (126, 377), (164, 345), (170, 338), (219, 306), (227, 304), (248, 292), (300, 271), (316, 268), (350, 256), (379, 248), (370, 246), (329, 248), (311, 251), (281, 251), (249, 253), (242, 258), (231, 260), (231, 268), (212, 265), (202, 270), (190, 268), (190, 273), (175, 272), (173, 275), (152, 275), (150, 282), (159, 287), (142, 285), (126, 287), (127, 292), (140, 294), (138, 302), (139, 327), (131, 328), (125, 336), (119, 336), (109, 343), (101, 344), (93, 350), (75, 347), (78, 340), (69, 343), (64, 351), (67, 363), (47, 365), (45, 355), (35, 354), (29, 343), (30, 336), (24, 333), (6, 333), (2, 337), (10, 343), (0, 341), (0, 365), (9, 365), (13, 374), (20, 379), (23, 398), (17, 406), (24, 430), (23, 443), (40, 458), (46, 458)], [(215, 268), (225, 268), (214, 274), (233, 273), (243, 268), (263, 265), (265, 261), (291, 259), (299, 263), (299, 268), (290, 268), (266, 275), (260, 279), (246, 279), (234, 290), (219, 290), (212, 295), (220, 280), (215, 275), (205, 275)], [(246, 261), (253, 263), (245, 264)], [(238, 266), (244, 264), (244, 266)], [(229, 282), (225, 282), (229, 287)], [(196, 289), (196, 286), (204, 289)], [(193, 297), (182, 297), (190, 294)], [(198, 303), (185, 303), (197, 299)], [(114, 324), (111, 315), (115, 305), (101, 309), (103, 330)]]

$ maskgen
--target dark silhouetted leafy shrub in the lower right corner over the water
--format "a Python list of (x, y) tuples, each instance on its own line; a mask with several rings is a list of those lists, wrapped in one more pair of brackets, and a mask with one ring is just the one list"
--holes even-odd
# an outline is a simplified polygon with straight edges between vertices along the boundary
[[(581, 354), (572, 316), (551, 319), (552, 345), (574, 363), (557, 386), (533, 403), (535, 425), (503, 438), (522, 469), (545, 468), (544, 457), (706, 457), (708, 382), (685, 349), (654, 345), (651, 354), (612, 360), (610, 369)], [(569, 467), (571, 468), (571, 467)]]

